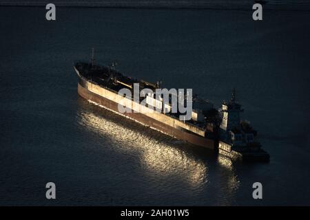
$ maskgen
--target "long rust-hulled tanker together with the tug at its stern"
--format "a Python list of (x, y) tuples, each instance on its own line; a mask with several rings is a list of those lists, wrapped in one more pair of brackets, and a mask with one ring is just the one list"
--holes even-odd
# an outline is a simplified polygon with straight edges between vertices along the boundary
[[(178, 140), (203, 146), (236, 159), (269, 161), (269, 154), (262, 150), (260, 143), (256, 141), (257, 132), (251, 128), (249, 122), (240, 120), (240, 112), (243, 110), (236, 102), (235, 90), (231, 100), (223, 102), (220, 109), (215, 109), (209, 100), (197, 95), (192, 96), (190, 120), (180, 120), (180, 112), (172, 113), (171, 105), (163, 103), (161, 99), (147, 96), (146, 103), (141, 104), (144, 98), (134, 100), (119, 94), (121, 89), (133, 91), (134, 85), (138, 85), (140, 91), (151, 89), (155, 94), (161, 83), (149, 83), (124, 76), (115, 66), (115, 63), (110, 66), (95, 65), (94, 54), (90, 62), (74, 63), (74, 70), (79, 77), (78, 94), (90, 102), (100, 104), (114, 113)], [(124, 99), (126, 108), (132, 111), (119, 111)], [(158, 104), (161, 111), (155, 109)]]

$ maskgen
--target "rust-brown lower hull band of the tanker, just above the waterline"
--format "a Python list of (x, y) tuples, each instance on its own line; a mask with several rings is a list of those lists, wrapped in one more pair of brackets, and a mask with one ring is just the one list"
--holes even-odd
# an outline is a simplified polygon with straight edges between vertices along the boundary
[[(107, 98), (104, 98), (103, 96), (99, 96), (98, 94), (94, 94), (92, 91), (89, 91), (88, 89), (82, 87), (79, 83), (78, 83), (78, 93), (86, 100), (91, 100), (93, 102), (96, 102), (97, 104), (103, 105), (107, 109), (118, 112), (118, 103), (113, 102), (112, 100), (109, 100)], [(191, 144), (214, 149), (214, 140), (199, 135), (194, 135), (192, 133), (176, 129), (172, 126), (168, 126), (163, 122), (154, 120), (154, 118), (149, 118), (147, 115), (144, 115), (143, 113), (125, 112), (121, 114), (134, 120), (137, 120), (138, 122), (141, 122), (147, 126), (151, 126), (152, 128), (162, 131), (163, 133), (167, 133), (168, 135), (176, 137), (178, 140), (184, 140)]]

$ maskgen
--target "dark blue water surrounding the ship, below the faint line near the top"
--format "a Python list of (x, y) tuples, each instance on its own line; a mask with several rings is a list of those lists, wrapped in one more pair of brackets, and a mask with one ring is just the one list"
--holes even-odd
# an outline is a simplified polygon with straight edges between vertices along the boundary
[[(0, 8), (1, 205), (309, 205), (309, 12)], [(242, 164), (94, 106), (72, 62), (194, 88), (233, 87), (269, 164)], [(54, 201), (45, 184), (56, 184)], [(260, 181), (263, 199), (252, 199)]]

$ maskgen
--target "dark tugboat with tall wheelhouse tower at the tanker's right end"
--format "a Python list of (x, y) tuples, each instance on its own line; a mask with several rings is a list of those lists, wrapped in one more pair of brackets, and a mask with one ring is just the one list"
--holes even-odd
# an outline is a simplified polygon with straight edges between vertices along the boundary
[(260, 143), (255, 139), (257, 131), (249, 122), (240, 120), (243, 109), (236, 102), (236, 89), (233, 90), (231, 100), (228, 103), (223, 102), (218, 111), (222, 118), (219, 129), (219, 153), (245, 161), (269, 162), (269, 154), (262, 150)]

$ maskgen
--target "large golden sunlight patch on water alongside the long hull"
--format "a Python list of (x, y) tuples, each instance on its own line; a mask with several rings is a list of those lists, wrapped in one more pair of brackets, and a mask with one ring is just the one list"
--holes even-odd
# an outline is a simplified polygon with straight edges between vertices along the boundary
[[(122, 119), (118, 116), (118, 120)], [(203, 186), (207, 181), (205, 163), (177, 148), (183, 142), (161, 133), (154, 132), (158, 137), (145, 135), (143, 129), (146, 127), (142, 131), (131, 129), (123, 126), (122, 121), (114, 122), (87, 111), (78, 112), (78, 122), (88, 131), (110, 137), (112, 144), (121, 151), (138, 155), (141, 165), (147, 168), (147, 175), (176, 176), (192, 187)]]

